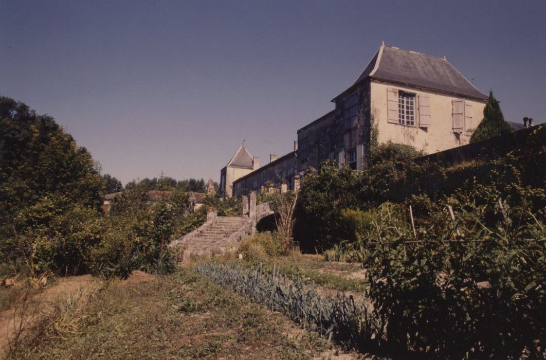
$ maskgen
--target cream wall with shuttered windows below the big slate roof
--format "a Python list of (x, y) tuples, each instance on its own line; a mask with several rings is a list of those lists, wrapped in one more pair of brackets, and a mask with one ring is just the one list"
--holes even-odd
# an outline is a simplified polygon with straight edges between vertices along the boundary
[[(402, 143), (414, 146), (417, 150), (423, 150), (426, 154), (451, 149), (452, 147), (468, 144), (473, 129), (475, 129), (483, 118), (485, 103), (466, 99), (470, 103), (472, 119), (465, 123), (464, 131), (459, 138), (453, 133), (452, 100), (460, 99), (440, 93), (429, 91), (416, 91), (411, 87), (402, 87), (381, 82), (370, 84), (371, 111), (375, 114), (378, 129), (378, 143)], [(430, 96), (430, 118), (431, 125), (422, 129), (413, 126), (403, 126), (387, 121), (387, 88), (410, 93), (427, 93)], [(417, 97), (416, 97), (417, 98)], [(416, 120), (419, 118), (419, 111), (416, 111)]]

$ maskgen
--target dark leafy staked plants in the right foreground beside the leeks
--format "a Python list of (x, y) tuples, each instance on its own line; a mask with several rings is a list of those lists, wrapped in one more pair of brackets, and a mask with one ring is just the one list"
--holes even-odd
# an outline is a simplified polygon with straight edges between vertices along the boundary
[(491, 187), (445, 199), (456, 204), (454, 223), (442, 205), (413, 198), (427, 210), (416, 212), (417, 243), (405, 205), (379, 209), (364, 264), (389, 346), (453, 358), (539, 356), (546, 247), (525, 239), (546, 235), (544, 208), (536, 207), (545, 198), (542, 190), (519, 191), (535, 203), (506, 202), (506, 220)]

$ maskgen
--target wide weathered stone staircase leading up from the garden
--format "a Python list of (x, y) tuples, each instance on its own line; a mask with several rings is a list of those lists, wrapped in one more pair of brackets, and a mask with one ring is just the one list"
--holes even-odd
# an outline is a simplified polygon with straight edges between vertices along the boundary
[(180, 249), (177, 259), (182, 262), (191, 256), (234, 252), (239, 241), (252, 234), (252, 225), (249, 217), (216, 216), (209, 213), (203, 225), (173, 241), (169, 247)]

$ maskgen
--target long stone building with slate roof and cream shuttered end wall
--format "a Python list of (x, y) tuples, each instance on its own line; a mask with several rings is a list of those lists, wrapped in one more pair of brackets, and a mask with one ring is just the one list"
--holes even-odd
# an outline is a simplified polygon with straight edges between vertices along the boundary
[(445, 57), (382, 44), (332, 100), (335, 109), (298, 130), (297, 150), (233, 180), (234, 194), (278, 185), (324, 160), (363, 170), (372, 144), (392, 141), (425, 154), (468, 144), (487, 99)]

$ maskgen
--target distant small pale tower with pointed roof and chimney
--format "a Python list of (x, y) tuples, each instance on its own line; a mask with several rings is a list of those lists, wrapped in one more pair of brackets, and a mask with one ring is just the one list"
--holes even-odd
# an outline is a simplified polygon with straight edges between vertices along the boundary
[(220, 194), (233, 196), (233, 182), (260, 167), (260, 158), (253, 157), (244, 145), (239, 147), (228, 164), (220, 170)]

